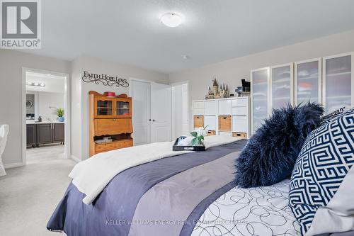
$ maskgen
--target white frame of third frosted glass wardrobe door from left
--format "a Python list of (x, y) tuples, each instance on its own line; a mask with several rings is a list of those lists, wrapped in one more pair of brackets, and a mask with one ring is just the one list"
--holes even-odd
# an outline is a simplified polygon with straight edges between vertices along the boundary
[(299, 105), (297, 102), (297, 66), (299, 64), (305, 64), (309, 62), (318, 63), (319, 75), (318, 75), (318, 88), (317, 88), (318, 89), (317, 103), (322, 102), (322, 57), (317, 57), (309, 60), (294, 62), (294, 105), (295, 106)]

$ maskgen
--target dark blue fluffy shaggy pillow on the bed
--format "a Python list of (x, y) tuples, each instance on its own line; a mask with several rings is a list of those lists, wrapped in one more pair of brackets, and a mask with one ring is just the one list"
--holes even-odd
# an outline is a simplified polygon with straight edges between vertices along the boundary
[(235, 184), (243, 188), (269, 186), (287, 178), (307, 135), (321, 123), (317, 103), (273, 110), (235, 162)]

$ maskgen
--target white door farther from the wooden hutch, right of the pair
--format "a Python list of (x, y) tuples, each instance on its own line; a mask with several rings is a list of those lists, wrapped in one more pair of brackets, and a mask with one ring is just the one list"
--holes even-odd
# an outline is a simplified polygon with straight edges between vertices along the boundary
[(151, 84), (151, 142), (172, 140), (171, 86)]

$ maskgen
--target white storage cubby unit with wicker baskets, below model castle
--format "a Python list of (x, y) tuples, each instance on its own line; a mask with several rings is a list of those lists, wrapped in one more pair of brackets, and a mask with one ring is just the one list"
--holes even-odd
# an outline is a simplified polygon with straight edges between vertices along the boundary
[(193, 128), (201, 123), (211, 134), (249, 138), (249, 97), (193, 101)]

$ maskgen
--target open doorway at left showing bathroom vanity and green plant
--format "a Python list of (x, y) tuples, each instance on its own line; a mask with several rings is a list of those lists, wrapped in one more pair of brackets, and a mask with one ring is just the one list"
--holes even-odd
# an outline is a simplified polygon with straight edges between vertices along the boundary
[(23, 68), (23, 165), (69, 158), (69, 74)]

